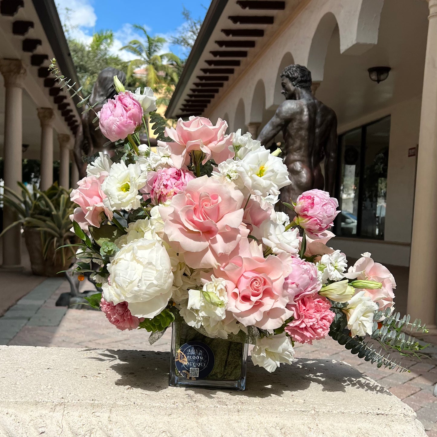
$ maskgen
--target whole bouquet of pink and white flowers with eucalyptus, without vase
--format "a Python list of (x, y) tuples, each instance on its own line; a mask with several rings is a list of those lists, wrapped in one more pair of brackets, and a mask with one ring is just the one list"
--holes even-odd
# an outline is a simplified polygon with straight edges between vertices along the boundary
[(71, 193), (83, 241), (76, 270), (91, 271), (103, 289), (89, 302), (110, 323), (156, 339), (177, 316), (211, 338), (246, 336), (253, 363), (269, 372), (291, 363), (294, 342), (328, 335), (378, 367), (399, 365), (386, 351), (421, 355), (402, 328), (426, 328), (394, 311), (388, 269), (370, 253), (347, 269), (344, 253), (329, 247), (335, 198), (310, 190), (285, 203), (291, 219), (276, 212), (291, 183), (280, 149), (240, 130), (227, 135), (220, 118), (164, 128), (152, 112), (160, 141), (151, 150), (138, 132), (153, 94), (114, 80), (118, 94), (96, 121), (116, 156), (99, 153)]

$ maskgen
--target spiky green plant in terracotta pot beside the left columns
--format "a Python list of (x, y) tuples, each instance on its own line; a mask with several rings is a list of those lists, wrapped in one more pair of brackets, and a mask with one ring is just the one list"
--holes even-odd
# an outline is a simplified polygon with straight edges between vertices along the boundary
[(70, 214), (73, 214), (74, 208), (69, 191), (56, 183), (46, 191), (38, 190), (35, 185), (33, 190), (21, 182), (18, 185), (21, 196), (10, 188), (4, 188), (4, 205), (17, 213), (18, 220), (3, 229), (0, 237), (14, 226), (21, 225), (32, 273), (57, 276), (58, 272), (69, 267), (70, 258), (75, 253), (72, 246), (61, 247), (76, 242), (70, 231)]

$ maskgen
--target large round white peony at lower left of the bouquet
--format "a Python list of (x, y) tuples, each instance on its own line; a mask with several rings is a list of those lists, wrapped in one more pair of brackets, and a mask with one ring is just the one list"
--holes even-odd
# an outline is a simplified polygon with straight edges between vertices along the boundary
[(167, 305), (173, 284), (170, 257), (156, 240), (142, 238), (123, 246), (108, 264), (110, 284), (103, 297), (114, 305), (127, 302), (133, 316), (152, 319)]

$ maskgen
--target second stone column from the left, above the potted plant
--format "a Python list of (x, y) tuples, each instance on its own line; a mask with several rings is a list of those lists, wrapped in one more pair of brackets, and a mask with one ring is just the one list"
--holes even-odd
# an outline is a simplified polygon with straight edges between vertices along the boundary
[(39, 188), (47, 190), (53, 184), (53, 119), (52, 108), (38, 108), (41, 123), (41, 182)]

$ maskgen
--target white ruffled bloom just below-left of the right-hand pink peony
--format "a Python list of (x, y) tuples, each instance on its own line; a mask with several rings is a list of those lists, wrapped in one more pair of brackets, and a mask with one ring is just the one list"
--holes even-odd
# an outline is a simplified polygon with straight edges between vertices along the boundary
[(266, 220), (260, 226), (260, 234), (263, 243), (270, 247), (273, 253), (290, 253), (295, 255), (299, 252), (299, 230), (297, 228), (285, 231), (285, 226)]

